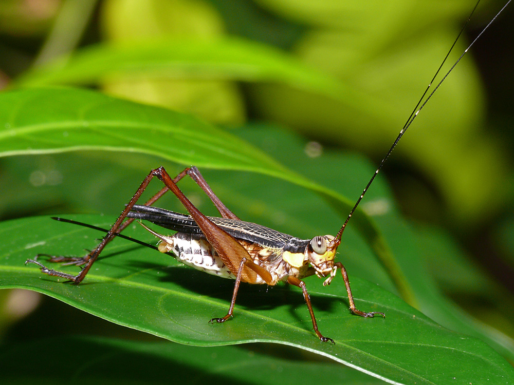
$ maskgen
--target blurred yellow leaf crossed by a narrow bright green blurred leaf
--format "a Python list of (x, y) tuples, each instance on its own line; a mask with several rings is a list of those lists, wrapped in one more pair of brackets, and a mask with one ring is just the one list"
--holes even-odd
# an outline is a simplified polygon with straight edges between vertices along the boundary
[[(106, 42), (212, 39), (224, 30), (221, 16), (203, 0), (108, 0), (102, 6)], [(245, 121), (243, 95), (229, 80), (156, 79), (152, 75), (124, 80), (117, 76), (104, 78), (101, 87), (112, 95), (192, 113), (217, 124)]]

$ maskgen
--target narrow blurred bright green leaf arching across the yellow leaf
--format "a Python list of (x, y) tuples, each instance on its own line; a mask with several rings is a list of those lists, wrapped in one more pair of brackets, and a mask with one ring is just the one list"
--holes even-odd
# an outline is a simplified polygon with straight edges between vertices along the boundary
[(236, 37), (168, 37), (98, 44), (26, 72), (15, 85), (84, 85), (105, 80), (163, 78), (279, 83), (376, 114), (357, 89), (310, 68), (286, 52)]

